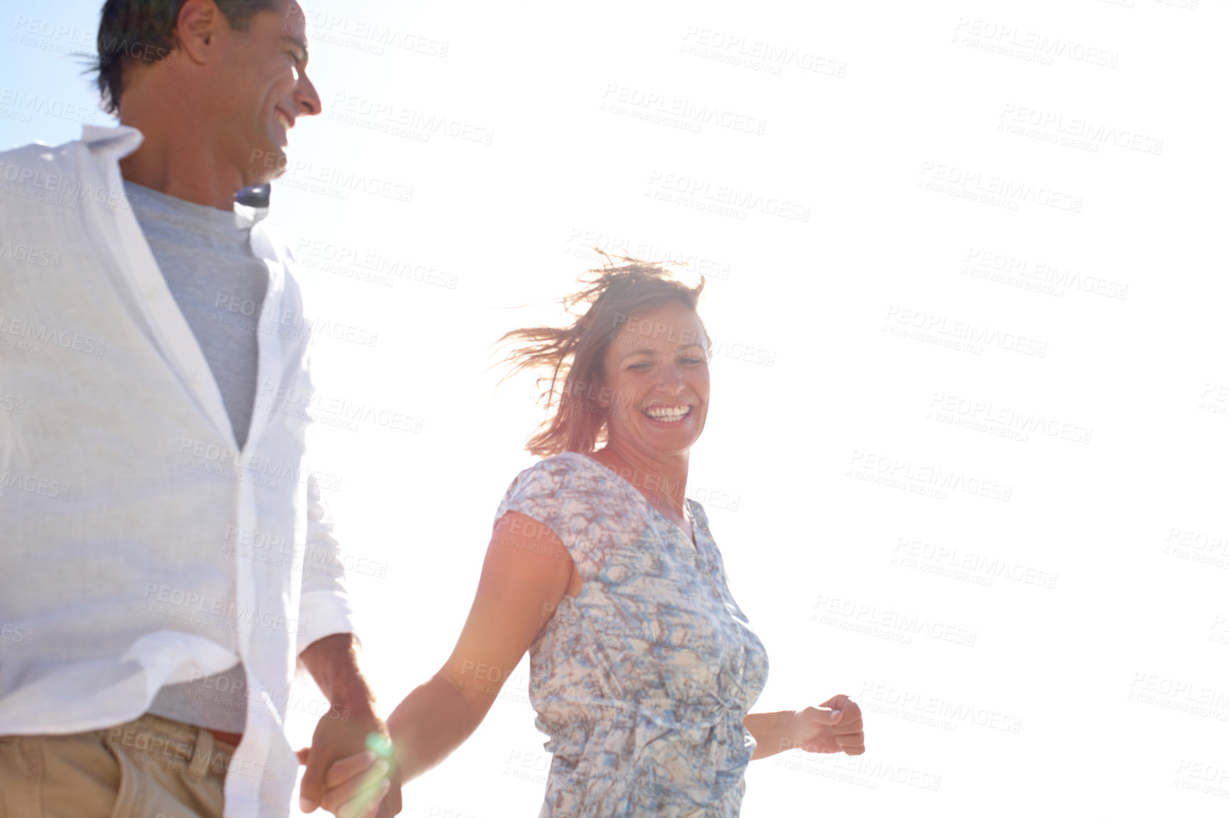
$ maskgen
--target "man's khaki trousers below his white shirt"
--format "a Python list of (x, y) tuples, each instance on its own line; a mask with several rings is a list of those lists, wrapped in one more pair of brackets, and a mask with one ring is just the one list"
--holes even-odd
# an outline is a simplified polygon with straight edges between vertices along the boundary
[(235, 748), (144, 715), (70, 736), (0, 736), (0, 818), (221, 818)]

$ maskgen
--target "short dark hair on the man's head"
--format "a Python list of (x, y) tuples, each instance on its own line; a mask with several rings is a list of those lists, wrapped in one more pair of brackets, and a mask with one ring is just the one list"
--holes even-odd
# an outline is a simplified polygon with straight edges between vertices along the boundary
[[(213, 0), (226, 22), (247, 31), (252, 15), (277, 7), (277, 0)], [(183, 0), (107, 0), (98, 21), (98, 92), (107, 113), (119, 111), (123, 70), (133, 63), (161, 63), (178, 44), (175, 26)]]

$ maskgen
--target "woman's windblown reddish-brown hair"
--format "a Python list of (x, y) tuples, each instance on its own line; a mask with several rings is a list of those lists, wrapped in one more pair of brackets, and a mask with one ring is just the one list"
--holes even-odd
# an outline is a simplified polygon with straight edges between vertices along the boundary
[[(605, 253), (603, 253), (605, 255)], [(681, 301), (692, 311), (704, 290), (704, 278), (688, 286), (664, 264), (606, 255), (607, 265), (581, 276), (584, 287), (564, 296), (563, 307), (574, 321), (565, 327), (524, 327), (504, 333), (500, 344), (512, 350), (504, 359), (506, 377), (521, 371), (538, 372), (538, 402), (547, 416), (525, 447), (538, 457), (560, 452), (589, 454), (606, 440), (606, 418), (618, 410), (607, 399), (602, 405), (602, 360), (628, 317)], [(701, 323), (703, 327), (703, 323)], [(705, 348), (712, 349), (708, 333)], [(543, 382), (549, 382), (543, 388)]]

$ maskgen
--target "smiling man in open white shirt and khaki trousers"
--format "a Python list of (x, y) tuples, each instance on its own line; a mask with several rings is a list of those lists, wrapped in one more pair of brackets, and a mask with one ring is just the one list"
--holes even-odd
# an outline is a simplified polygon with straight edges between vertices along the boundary
[[(305, 33), (294, 0), (107, 0), (120, 127), (0, 154), (0, 814), (286, 816), (299, 663), (331, 704), (306, 808), (387, 738), (323, 504), (340, 478), (284, 400), (311, 391), (310, 322), (235, 204), (321, 111)], [(387, 766), (366, 814), (401, 808)]]

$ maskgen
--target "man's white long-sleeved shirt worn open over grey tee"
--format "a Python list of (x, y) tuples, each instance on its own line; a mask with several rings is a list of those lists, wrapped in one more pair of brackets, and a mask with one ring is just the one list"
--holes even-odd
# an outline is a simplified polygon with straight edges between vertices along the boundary
[(311, 393), (310, 322), (289, 251), (257, 224), (264, 399), (236, 452), (123, 197), (118, 162), (141, 139), (86, 125), (0, 154), (0, 736), (123, 723), (163, 684), (242, 660), (225, 814), (283, 817), (296, 657), (353, 631), (308, 420), (279, 403)]

